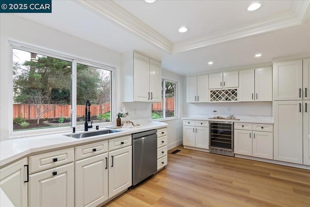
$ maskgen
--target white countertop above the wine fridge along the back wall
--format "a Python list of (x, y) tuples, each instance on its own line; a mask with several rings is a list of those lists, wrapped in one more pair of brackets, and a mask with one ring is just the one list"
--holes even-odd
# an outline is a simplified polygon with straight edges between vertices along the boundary
[[(228, 115), (218, 115), (221, 117), (227, 117)], [(246, 122), (246, 123), (258, 123), (258, 124), (273, 124), (274, 119), (272, 116), (238, 116), (235, 117), (240, 120), (233, 119), (210, 119), (214, 115), (206, 115), (203, 117), (184, 117), (183, 120), (202, 120), (202, 121), (220, 121), (220, 122)]]

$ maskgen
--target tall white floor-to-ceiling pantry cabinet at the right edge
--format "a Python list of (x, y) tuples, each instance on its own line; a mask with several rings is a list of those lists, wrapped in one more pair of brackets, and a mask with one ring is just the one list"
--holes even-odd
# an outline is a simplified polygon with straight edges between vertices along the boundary
[(310, 165), (310, 59), (273, 65), (274, 159)]

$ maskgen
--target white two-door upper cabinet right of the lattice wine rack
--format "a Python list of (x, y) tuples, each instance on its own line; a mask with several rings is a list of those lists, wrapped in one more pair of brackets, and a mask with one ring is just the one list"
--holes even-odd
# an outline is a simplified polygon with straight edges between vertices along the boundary
[(272, 101), (272, 68), (239, 71), (239, 101)]

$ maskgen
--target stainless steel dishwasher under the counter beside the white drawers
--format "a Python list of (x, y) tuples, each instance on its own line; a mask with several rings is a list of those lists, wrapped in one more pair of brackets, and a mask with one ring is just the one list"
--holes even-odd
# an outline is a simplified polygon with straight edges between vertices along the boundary
[(157, 129), (132, 134), (132, 185), (157, 171)]

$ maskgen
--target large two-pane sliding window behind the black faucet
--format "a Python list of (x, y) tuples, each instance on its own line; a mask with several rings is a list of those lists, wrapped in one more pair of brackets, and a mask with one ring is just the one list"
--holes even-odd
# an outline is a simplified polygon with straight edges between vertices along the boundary
[(87, 100), (93, 125), (112, 121), (111, 69), (31, 48), (12, 54), (12, 131), (83, 125)]

